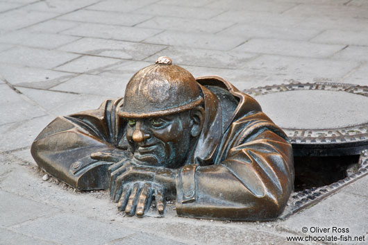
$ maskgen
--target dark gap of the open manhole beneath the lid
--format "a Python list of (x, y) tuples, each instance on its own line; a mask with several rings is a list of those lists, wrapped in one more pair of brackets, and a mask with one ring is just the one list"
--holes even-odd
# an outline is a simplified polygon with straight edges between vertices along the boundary
[(294, 157), (294, 192), (331, 185), (359, 169), (360, 155)]

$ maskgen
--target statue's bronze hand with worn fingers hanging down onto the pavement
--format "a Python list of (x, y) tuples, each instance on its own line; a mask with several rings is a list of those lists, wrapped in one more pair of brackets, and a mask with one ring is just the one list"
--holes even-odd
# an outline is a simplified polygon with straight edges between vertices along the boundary
[(122, 160), (110, 166), (110, 196), (118, 209), (142, 217), (156, 198), (158, 212), (165, 209), (165, 196), (176, 196), (177, 169), (149, 167)]

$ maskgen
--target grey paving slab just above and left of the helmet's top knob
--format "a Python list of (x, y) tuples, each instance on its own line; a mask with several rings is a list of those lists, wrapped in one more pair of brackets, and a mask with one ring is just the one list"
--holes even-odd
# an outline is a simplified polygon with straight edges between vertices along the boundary
[(73, 42), (72, 44), (67, 44), (59, 49), (62, 51), (90, 54), (93, 56), (143, 60), (165, 48), (166, 46), (156, 44), (142, 44), (137, 42), (84, 37), (81, 40)]

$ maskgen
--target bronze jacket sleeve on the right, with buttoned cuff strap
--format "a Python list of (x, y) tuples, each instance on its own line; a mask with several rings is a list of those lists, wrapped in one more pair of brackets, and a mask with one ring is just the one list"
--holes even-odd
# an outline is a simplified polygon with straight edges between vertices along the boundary
[(218, 164), (181, 169), (176, 178), (178, 215), (254, 221), (283, 212), (294, 183), (292, 146), (262, 115), (233, 123)]

